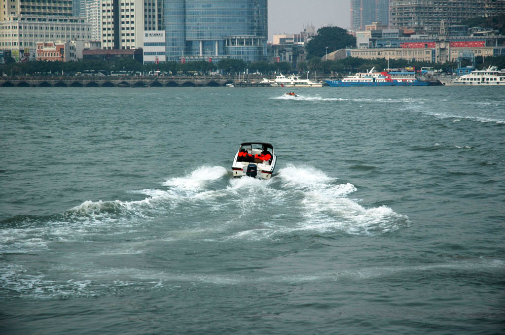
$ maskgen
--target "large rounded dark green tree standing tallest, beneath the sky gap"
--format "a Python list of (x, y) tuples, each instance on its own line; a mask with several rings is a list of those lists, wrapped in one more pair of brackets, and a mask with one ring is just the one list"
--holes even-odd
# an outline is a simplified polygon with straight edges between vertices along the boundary
[(323, 57), (328, 47), (328, 53), (345, 48), (346, 46), (356, 46), (356, 37), (349, 35), (347, 30), (340, 27), (322, 27), (306, 45), (308, 58)]

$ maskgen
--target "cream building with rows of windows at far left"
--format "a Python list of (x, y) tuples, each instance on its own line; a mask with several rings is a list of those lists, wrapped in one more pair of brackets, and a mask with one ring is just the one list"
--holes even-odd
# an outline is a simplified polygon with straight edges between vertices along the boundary
[(90, 40), (84, 17), (73, 16), (72, 0), (3, 0), (0, 9), (0, 49), (15, 60), (35, 58), (36, 42)]

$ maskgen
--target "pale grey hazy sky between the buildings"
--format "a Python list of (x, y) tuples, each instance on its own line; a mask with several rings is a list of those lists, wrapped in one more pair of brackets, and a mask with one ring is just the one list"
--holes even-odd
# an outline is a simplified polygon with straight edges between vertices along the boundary
[(268, 40), (273, 34), (297, 34), (308, 25), (350, 26), (349, 0), (269, 0)]

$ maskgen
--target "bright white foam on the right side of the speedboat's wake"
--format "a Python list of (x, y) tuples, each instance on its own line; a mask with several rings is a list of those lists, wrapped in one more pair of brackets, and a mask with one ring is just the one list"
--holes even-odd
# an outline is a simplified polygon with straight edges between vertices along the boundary
[[(291, 206), (298, 208), (300, 215), (305, 219), (292, 225), (273, 224), (265, 229), (242, 231), (233, 234), (231, 238), (275, 239), (285, 233), (304, 230), (374, 235), (395, 231), (411, 224), (408, 216), (397, 214), (387, 206), (372, 208), (361, 206), (358, 200), (348, 198), (357, 191), (354, 185), (338, 184), (336, 178), (328, 177), (314, 167), (289, 164), (280, 169), (277, 178), (281, 181), (282, 188), (286, 190), (281, 197), (290, 196), (293, 191), (300, 194), (298, 205), (291, 204)], [(256, 184), (254, 180), (243, 183)], [(264, 185), (268, 187), (268, 184)], [(265, 226), (267, 223), (265, 222)]]

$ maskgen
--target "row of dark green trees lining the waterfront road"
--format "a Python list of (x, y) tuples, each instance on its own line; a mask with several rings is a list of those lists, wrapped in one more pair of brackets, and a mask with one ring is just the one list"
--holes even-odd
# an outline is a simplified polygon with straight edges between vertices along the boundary
[[(484, 62), (485, 61), (485, 62)], [(365, 72), (375, 67), (380, 71), (388, 68), (405, 68), (415, 67), (432, 67), (435, 70), (451, 71), (460, 64), (456, 62), (447, 63), (430, 63), (430, 62), (410, 62), (407, 60), (388, 60), (385, 58), (380, 59), (362, 59), (356, 57), (347, 57), (338, 61), (324, 61), (319, 57), (312, 58), (308, 62), (298, 63), (297, 69), (293, 69), (290, 63), (245, 63), (242, 60), (226, 59), (221, 60), (217, 64), (208, 62), (188, 62), (185, 64), (177, 62), (166, 62), (160, 64), (145, 64), (132, 60), (130, 58), (118, 59), (114, 62), (102, 61), (80, 61), (80, 62), (46, 62), (46, 61), (33, 61), (26, 63), (11, 63), (0, 67), (0, 72), (7, 75), (42, 75), (42, 74), (73, 74), (83, 72), (86, 70), (95, 71), (132, 71), (132, 72), (149, 72), (149, 71), (164, 71), (172, 72), (172, 74), (190, 74), (198, 72), (201, 74), (209, 73), (210, 71), (222, 70), (225, 75), (242, 74), (246, 70), (248, 73), (260, 72), (264, 76), (273, 75), (274, 73), (309, 73), (310, 77), (314, 76), (341, 76), (348, 73)], [(471, 65), (471, 62), (465, 60), (461, 66)], [(476, 65), (478, 68), (487, 68), (488, 66), (496, 66), (498, 69), (505, 69), (505, 56), (499, 57), (476, 57)]]

